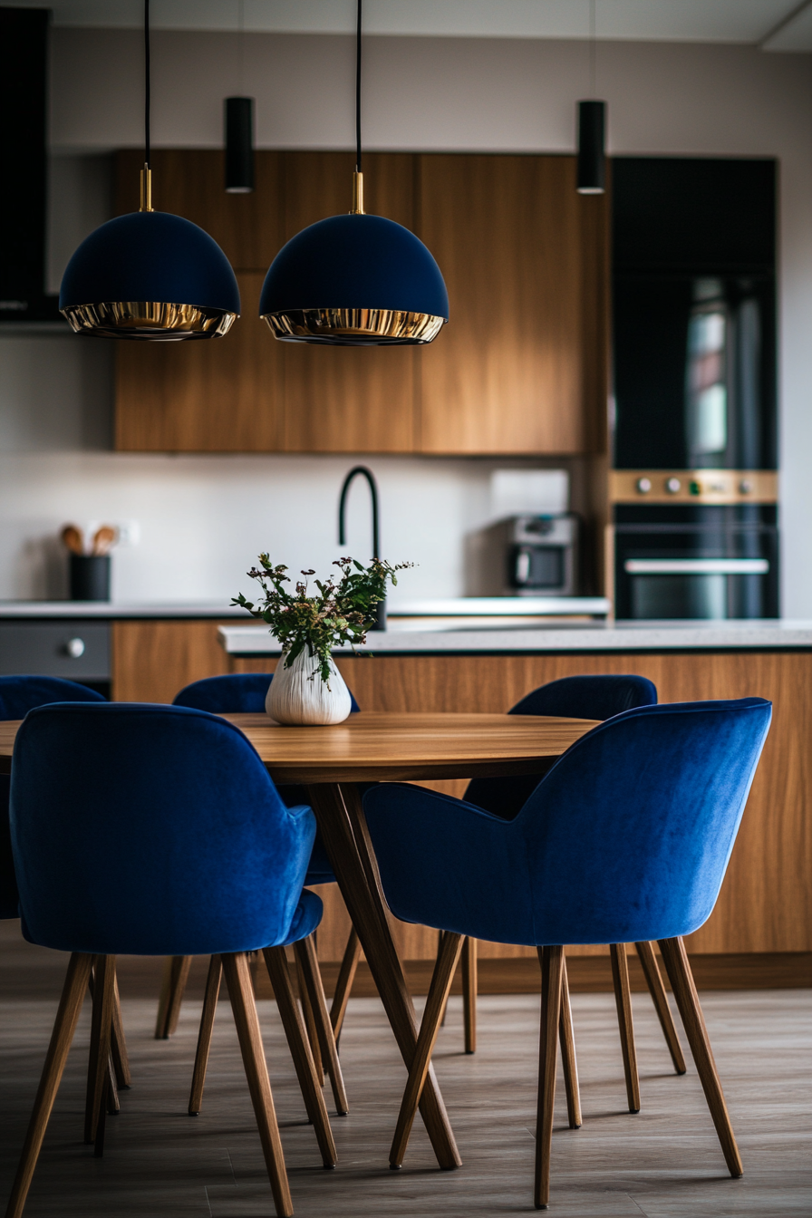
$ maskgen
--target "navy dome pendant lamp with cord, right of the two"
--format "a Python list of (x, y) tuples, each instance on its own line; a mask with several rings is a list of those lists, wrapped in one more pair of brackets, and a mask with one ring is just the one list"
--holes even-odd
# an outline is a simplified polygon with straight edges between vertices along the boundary
[(407, 346), (431, 342), (448, 320), (446, 284), (422, 241), (364, 212), (360, 28), (358, 0), (353, 206), (303, 229), (270, 264), (259, 315), (282, 342)]

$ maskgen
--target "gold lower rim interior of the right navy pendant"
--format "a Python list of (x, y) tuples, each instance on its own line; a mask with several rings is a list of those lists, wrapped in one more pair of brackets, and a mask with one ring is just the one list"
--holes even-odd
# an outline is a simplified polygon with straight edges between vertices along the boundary
[(265, 313), (278, 339), (340, 345), (431, 342), (444, 318), (383, 308), (303, 308)]

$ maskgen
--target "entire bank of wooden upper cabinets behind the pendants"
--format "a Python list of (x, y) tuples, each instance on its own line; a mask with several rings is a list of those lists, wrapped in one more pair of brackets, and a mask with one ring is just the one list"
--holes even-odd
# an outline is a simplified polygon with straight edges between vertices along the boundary
[[(366, 211), (418, 233), (448, 285), (429, 347), (279, 342), (258, 317), (285, 241), (348, 212), (352, 153), (257, 152), (248, 195), (225, 194), (218, 151), (158, 150), (152, 166), (156, 206), (222, 246), (242, 309), (224, 339), (116, 345), (119, 449), (605, 452), (607, 206), (576, 192), (573, 157), (365, 155)], [(119, 212), (140, 167), (119, 153)]]

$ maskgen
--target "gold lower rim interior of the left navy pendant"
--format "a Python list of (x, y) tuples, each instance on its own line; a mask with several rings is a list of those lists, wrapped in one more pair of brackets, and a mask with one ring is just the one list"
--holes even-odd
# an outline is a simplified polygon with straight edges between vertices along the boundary
[(222, 339), (237, 313), (198, 308), (196, 304), (166, 304), (161, 301), (107, 301), (103, 304), (72, 304), (63, 308), (75, 334), (112, 339)]

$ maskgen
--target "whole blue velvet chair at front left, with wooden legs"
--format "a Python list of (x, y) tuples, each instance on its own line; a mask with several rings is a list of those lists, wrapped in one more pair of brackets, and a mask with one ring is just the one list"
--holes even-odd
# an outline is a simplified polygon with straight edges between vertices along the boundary
[[(292, 1213), (247, 952), (276, 989), (321, 1158), (335, 1144), (285, 963), (321, 901), (302, 892), (315, 818), (286, 808), (233, 725), (149, 704), (41, 706), (26, 717), (11, 776), (11, 838), (22, 929), (71, 952), (7, 1218), (18, 1218), (95, 972), (88, 1140), (103, 1144), (114, 955), (211, 955), (225, 973), (276, 1212)], [(286, 987), (285, 987), (286, 982)], [(211, 995), (207, 995), (211, 996)], [(211, 1034), (211, 1027), (208, 1028)], [(207, 1054), (201, 1027), (198, 1065)], [(196, 1084), (202, 1078), (196, 1067)]]

